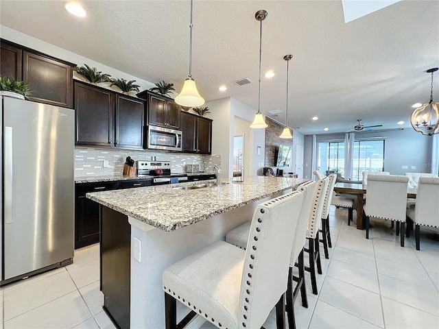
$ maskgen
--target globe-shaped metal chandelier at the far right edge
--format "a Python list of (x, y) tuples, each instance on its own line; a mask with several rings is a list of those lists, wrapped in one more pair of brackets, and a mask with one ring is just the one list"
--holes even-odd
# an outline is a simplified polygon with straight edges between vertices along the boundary
[(433, 101), (433, 73), (436, 71), (437, 67), (427, 70), (431, 73), (430, 101), (416, 108), (410, 118), (413, 129), (427, 136), (439, 134), (439, 103)]

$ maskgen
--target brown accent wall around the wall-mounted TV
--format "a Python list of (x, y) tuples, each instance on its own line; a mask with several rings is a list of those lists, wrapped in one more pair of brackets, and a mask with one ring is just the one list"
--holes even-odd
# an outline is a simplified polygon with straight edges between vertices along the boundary
[[(265, 123), (268, 124), (268, 127), (265, 128), (265, 165), (264, 167), (274, 167), (274, 162), (276, 162), (276, 159), (274, 158), (274, 151), (276, 150), (276, 147), (279, 147), (280, 144), (287, 145), (291, 147), (291, 151), (293, 151), (293, 140), (292, 139), (283, 139), (279, 138), (279, 136), (283, 132), (283, 128), (285, 125), (281, 125), (281, 123), (278, 123), (274, 121), (273, 119), (270, 119), (269, 117), (265, 117)], [(290, 130), (292, 136), (293, 130)], [(291, 159), (291, 153), (290, 153), (290, 159)], [(290, 167), (291, 167), (291, 160), (290, 160)], [(286, 167), (287, 168), (287, 167)]]

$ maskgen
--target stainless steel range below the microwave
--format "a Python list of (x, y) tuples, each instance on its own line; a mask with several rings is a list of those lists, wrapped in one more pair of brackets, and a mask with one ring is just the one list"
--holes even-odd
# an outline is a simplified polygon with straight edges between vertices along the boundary
[(182, 173), (171, 173), (170, 161), (137, 160), (137, 175), (153, 177), (152, 183), (175, 184), (187, 182), (188, 177)]

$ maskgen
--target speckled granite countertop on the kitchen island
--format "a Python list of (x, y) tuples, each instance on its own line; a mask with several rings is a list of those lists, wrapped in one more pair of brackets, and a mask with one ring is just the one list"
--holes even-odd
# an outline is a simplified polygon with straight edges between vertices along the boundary
[[(87, 193), (86, 197), (150, 226), (170, 232), (239, 208), (275, 193), (287, 191), (307, 180), (265, 176), (246, 177), (244, 182), (222, 180), (223, 186), (176, 190), (174, 187), (200, 184), (128, 188)], [(210, 181), (215, 182), (215, 181)]]

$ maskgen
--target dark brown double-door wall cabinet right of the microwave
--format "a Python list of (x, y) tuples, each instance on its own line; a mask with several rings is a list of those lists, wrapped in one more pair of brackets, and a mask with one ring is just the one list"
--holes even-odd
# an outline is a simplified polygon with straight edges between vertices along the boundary
[(212, 154), (212, 120), (181, 112), (182, 151)]

